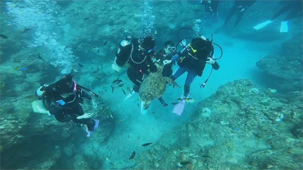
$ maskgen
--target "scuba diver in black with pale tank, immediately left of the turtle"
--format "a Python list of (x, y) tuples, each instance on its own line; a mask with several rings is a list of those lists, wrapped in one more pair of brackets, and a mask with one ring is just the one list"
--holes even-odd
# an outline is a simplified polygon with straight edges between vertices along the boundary
[[(139, 88), (145, 76), (150, 72), (156, 72), (157, 66), (152, 61), (155, 55), (155, 39), (151, 36), (145, 37), (142, 42), (138, 38), (127, 36), (121, 41), (112, 69), (119, 72), (126, 64), (128, 66), (127, 76), (134, 84), (131, 93), (124, 99), (127, 100), (134, 93), (139, 92)], [(158, 98), (163, 106), (167, 103), (160, 97)], [(142, 105), (142, 104), (141, 104)], [(142, 106), (141, 106), (142, 107)], [(142, 114), (146, 114), (147, 110), (141, 110)]]

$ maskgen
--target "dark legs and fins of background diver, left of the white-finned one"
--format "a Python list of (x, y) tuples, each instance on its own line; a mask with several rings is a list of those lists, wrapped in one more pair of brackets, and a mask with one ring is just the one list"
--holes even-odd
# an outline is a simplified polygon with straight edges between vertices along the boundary
[(231, 17), (235, 15), (235, 13), (237, 13), (237, 20), (235, 22), (234, 28), (237, 28), (246, 9), (251, 7), (251, 5), (254, 5), (255, 2), (256, 0), (235, 0), (234, 5), (229, 11), (227, 17), (225, 18), (224, 24), (221, 25), (221, 27), (219, 27), (215, 31), (215, 33), (219, 33), (223, 28), (225, 28)]

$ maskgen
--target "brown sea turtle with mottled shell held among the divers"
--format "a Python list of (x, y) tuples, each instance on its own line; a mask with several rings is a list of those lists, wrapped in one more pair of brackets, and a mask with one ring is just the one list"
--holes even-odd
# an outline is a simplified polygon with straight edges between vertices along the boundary
[(158, 70), (155, 73), (148, 75), (146, 79), (143, 80), (143, 83), (139, 89), (139, 96), (142, 100), (141, 103), (141, 112), (147, 110), (151, 100), (161, 97), (166, 90), (166, 83), (171, 83), (172, 85), (181, 88), (175, 81), (169, 77), (162, 76), (163, 66), (159, 66)]

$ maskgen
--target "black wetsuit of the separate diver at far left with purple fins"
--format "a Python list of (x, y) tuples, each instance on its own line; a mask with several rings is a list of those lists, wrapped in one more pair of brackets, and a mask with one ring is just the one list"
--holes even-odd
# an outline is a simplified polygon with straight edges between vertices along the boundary
[[(79, 103), (83, 103), (84, 99), (92, 100), (92, 98), (81, 88), (77, 87), (77, 92), (74, 95), (63, 98), (56, 90), (53, 90), (51, 86), (46, 88), (43, 100), (47, 100), (49, 113), (53, 114), (59, 122), (75, 122), (79, 124), (85, 124), (89, 131), (94, 130), (95, 121), (93, 119), (77, 119), (78, 116), (84, 115), (82, 107)], [(60, 100), (65, 102), (61, 105)]]

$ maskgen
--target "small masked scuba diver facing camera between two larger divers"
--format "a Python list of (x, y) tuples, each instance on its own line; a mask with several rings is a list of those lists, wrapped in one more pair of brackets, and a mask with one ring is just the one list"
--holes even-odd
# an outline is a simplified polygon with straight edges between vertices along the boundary
[[(159, 65), (163, 64), (164, 60), (171, 60), (171, 58), (176, 54), (176, 46), (172, 41), (166, 41), (164, 43), (164, 50), (160, 50), (157, 55), (154, 56), (156, 63)], [(172, 74), (173, 63), (164, 65), (162, 76), (170, 77)]]

